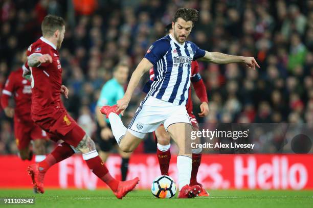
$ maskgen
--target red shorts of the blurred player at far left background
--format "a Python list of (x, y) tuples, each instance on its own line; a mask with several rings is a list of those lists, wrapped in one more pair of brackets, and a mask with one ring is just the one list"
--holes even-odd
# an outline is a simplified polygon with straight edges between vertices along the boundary
[(29, 147), (31, 140), (47, 140), (47, 133), (33, 121), (23, 122), (14, 117), (14, 135), (18, 150)]

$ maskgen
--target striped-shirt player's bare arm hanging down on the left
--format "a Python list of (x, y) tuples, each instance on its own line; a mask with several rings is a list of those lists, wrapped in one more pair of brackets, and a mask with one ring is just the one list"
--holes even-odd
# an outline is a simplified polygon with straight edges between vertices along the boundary
[[(133, 91), (135, 90), (135, 88), (137, 87), (140, 78), (142, 77), (142, 75), (146, 72), (148, 72), (150, 70), (150, 68), (152, 67), (152, 63), (146, 59), (143, 58), (140, 63), (138, 64), (137, 68), (135, 71), (133, 71), (130, 81), (128, 83), (127, 86), (127, 90), (125, 92), (125, 95), (122, 99), (118, 100), (117, 102), (117, 110), (118, 111), (123, 111), (127, 108), (128, 103), (130, 101), (131, 95), (133, 93)], [(123, 114), (123, 113), (122, 113)]]

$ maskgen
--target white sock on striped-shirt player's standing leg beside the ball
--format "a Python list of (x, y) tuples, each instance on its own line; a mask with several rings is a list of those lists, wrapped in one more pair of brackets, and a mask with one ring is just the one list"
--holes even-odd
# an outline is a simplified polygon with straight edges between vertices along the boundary
[(191, 163), (192, 159), (188, 156), (177, 156), (177, 169), (178, 169), (178, 186), (181, 189), (185, 185), (189, 185), (191, 177)]

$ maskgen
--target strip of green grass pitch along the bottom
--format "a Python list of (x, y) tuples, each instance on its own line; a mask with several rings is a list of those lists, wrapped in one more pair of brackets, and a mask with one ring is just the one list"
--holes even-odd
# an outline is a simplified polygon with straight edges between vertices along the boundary
[[(313, 207), (313, 191), (211, 190), (210, 197), (157, 199), (149, 190), (136, 190), (122, 200), (109, 190), (53, 190), (33, 194), (32, 190), (0, 190), (0, 197), (35, 197), (35, 205), (0, 207)], [(177, 195), (177, 194), (176, 194)]]

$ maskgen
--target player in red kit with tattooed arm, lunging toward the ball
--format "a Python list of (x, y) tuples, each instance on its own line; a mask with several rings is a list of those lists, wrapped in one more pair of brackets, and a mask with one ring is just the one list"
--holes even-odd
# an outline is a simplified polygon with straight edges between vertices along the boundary
[(54, 140), (62, 140), (46, 159), (28, 167), (35, 187), (43, 193), (43, 179), (47, 170), (61, 160), (72, 156), (75, 151), (82, 153), (83, 159), (92, 172), (104, 181), (121, 199), (135, 188), (139, 178), (119, 181), (113, 178), (100, 159), (94, 141), (66, 112), (60, 99), (68, 97), (68, 89), (62, 85), (62, 67), (58, 50), (64, 39), (63, 18), (47, 15), (41, 23), (42, 37), (28, 49), (28, 65), (31, 70), (32, 120), (48, 132)]

